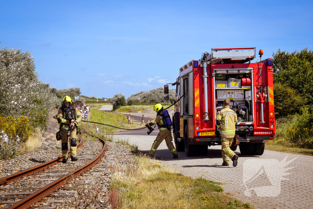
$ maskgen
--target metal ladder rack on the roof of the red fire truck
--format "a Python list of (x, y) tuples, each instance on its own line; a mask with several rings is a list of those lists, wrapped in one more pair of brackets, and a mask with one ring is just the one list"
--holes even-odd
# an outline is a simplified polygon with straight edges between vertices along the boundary
[(211, 49), (211, 54), (204, 54), (202, 60), (208, 64), (232, 64), (250, 62), (254, 58), (255, 47)]

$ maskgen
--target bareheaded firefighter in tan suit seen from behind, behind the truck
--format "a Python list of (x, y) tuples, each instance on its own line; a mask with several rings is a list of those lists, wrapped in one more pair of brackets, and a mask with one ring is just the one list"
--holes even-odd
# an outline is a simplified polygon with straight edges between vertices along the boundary
[(223, 102), (224, 108), (218, 111), (216, 115), (216, 125), (221, 133), (222, 141), (222, 157), (224, 166), (229, 165), (229, 160), (232, 159), (233, 167), (237, 166), (238, 155), (230, 149), (235, 137), (237, 114), (229, 108), (230, 101), (225, 99)]

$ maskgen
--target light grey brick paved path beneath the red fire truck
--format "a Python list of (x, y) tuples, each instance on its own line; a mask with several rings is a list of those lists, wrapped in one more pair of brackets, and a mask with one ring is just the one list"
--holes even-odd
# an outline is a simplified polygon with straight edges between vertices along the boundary
[[(116, 138), (129, 139), (131, 144), (137, 144), (142, 151), (149, 152), (155, 136), (134, 136), (134, 135), (116, 135)], [(187, 157), (185, 152), (179, 152), (179, 159), (172, 159), (171, 152), (167, 149), (165, 142), (163, 141), (159, 148), (156, 150), (156, 157), (160, 157), (161, 162), (177, 169), (183, 175), (192, 177), (203, 177), (208, 180), (216, 182), (227, 183), (222, 185), (224, 191), (232, 193), (237, 199), (256, 206), (260, 209), (270, 208), (313, 208), (313, 156), (290, 154), (284, 152), (276, 152), (265, 150), (262, 156), (242, 156), (239, 152), (239, 148), (235, 151), (239, 155), (238, 166), (234, 168), (232, 165), (229, 167), (221, 166), (221, 146), (211, 146), (208, 150), (207, 156), (201, 157)], [(276, 162), (281, 162), (286, 156), (287, 161), (298, 157), (292, 161), (286, 168), (295, 167), (286, 171), (290, 175), (285, 175), (286, 179), (276, 182), (276, 187), (273, 189), (273, 175), (277, 175), (278, 165), (274, 165)], [(248, 161), (246, 161), (248, 160)], [(259, 160), (259, 161), (258, 161)], [(248, 188), (255, 188), (260, 186), (265, 189), (266, 195), (275, 195), (278, 192), (278, 196), (274, 197), (261, 197), (260, 194), (252, 190), (251, 196), (246, 196), (246, 186), (243, 183), (244, 162), (252, 162), (249, 169), (258, 171), (261, 170), (261, 175), (257, 177), (251, 183), (246, 183)], [(253, 161), (255, 162), (253, 164)], [(265, 163), (264, 163), (265, 162)], [(263, 167), (262, 165), (263, 164)], [(262, 168), (263, 171), (262, 172)], [(249, 170), (248, 170), (249, 171)], [(252, 171), (251, 171), (252, 172)], [(247, 176), (251, 172), (245, 173)], [(276, 173), (275, 173), (276, 172)], [(270, 176), (269, 174), (273, 174)], [(252, 175), (253, 176), (253, 175)], [(272, 179), (271, 179), (272, 178)], [(277, 178), (274, 178), (277, 179)], [(271, 182), (270, 182), (271, 180)], [(281, 182), (281, 183), (280, 183)]]

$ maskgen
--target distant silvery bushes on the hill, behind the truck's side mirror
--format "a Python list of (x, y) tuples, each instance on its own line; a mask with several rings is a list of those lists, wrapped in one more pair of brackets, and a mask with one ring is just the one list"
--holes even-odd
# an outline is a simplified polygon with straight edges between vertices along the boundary
[[(175, 99), (175, 89), (168, 90), (168, 96), (170, 99)], [(159, 87), (151, 89), (149, 91), (140, 91), (136, 94), (132, 94), (127, 98), (127, 101), (132, 100), (140, 103), (160, 103), (160, 102), (171, 102), (164, 99), (164, 88)]]

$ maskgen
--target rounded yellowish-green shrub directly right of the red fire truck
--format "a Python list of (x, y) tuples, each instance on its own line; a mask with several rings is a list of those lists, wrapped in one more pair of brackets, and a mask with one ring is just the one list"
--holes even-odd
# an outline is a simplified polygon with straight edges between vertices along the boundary
[(274, 84), (274, 105), (275, 115), (285, 117), (299, 113), (300, 107), (305, 104), (305, 99), (294, 89), (282, 85)]

